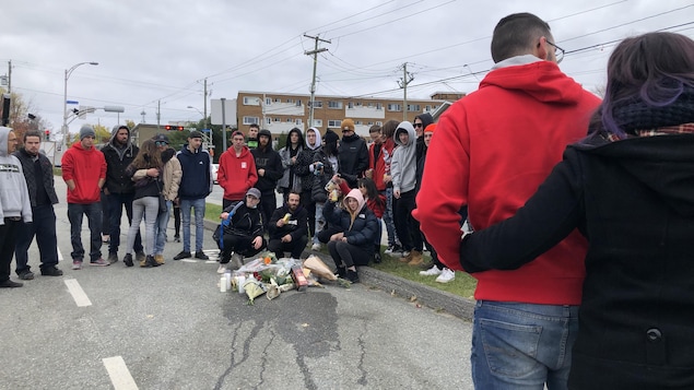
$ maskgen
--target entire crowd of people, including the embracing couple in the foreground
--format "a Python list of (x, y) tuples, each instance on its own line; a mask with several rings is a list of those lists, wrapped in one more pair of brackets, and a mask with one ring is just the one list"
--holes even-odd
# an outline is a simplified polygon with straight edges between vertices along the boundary
[[(233, 132), (217, 173), (217, 272), (266, 248), (299, 258), (307, 245), (327, 245), (337, 274), (358, 282), (356, 267), (381, 260), (386, 234), (385, 253), (422, 275), (446, 283), (459, 270), (477, 279), (475, 388), (691, 388), (694, 40), (662, 32), (623, 40), (602, 101), (560, 70), (563, 50), (533, 14), (502, 19), (491, 51), (495, 66), (479, 90), (437, 123), (430, 114), (390, 120), (369, 129), (369, 144), (352, 119), (341, 138), (295, 128), (279, 152), (268, 130)], [(126, 265), (164, 263), (173, 204), (184, 224), (174, 259), (208, 259), (202, 217), (212, 177), (202, 134), (190, 132), (177, 153), (164, 134), (138, 150), (126, 126), (102, 151), (94, 138), (84, 126), (62, 158), (72, 269), (86, 257), (83, 215), (90, 264), (119, 261), (123, 206)], [(40, 133), (26, 132), (16, 152), (11, 129), (0, 128), (0, 286), (22, 285), (10, 280), (14, 252), (19, 277), (34, 277), (26, 256), (34, 236), (42, 274), (59, 276), (58, 199)]]

